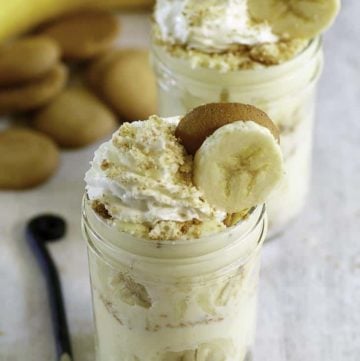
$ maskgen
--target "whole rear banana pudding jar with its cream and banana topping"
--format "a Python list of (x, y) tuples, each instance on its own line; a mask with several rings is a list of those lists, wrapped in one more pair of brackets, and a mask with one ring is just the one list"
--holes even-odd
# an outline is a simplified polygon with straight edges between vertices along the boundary
[(302, 209), (309, 188), (320, 34), (339, 0), (158, 0), (152, 62), (161, 116), (242, 102), (281, 131), (286, 175), (267, 202), (269, 233)]

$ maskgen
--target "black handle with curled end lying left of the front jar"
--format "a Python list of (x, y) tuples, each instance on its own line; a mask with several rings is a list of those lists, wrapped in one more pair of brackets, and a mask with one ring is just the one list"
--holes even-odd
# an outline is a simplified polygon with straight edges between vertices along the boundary
[(65, 221), (50, 214), (37, 216), (26, 226), (26, 238), (46, 280), (57, 361), (71, 361), (72, 351), (59, 275), (45, 244), (61, 239), (65, 231)]

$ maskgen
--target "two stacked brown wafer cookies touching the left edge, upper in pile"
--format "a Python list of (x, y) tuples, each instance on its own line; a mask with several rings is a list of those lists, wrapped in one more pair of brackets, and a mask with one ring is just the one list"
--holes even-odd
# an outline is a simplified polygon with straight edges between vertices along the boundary
[(65, 87), (60, 47), (48, 37), (27, 37), (0, 48), (0, 114), (43, 106)]

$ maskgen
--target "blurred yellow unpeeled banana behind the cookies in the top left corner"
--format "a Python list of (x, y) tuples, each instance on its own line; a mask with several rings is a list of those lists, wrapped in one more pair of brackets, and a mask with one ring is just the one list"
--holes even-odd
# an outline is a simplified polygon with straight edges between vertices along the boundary
[(77, 9), (150, 7), (154, 0), (0, 0), (0, 43)]

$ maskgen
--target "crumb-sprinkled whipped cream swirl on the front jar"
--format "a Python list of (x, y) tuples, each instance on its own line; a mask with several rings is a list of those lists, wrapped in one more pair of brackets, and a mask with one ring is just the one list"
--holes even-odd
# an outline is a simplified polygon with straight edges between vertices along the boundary
[(175, 137), (179, 117), (124, 123), (95, 152), (87, 196), (108, 222), (139, 237), (186, 239), (225, 228), (225, 212), (192, 183), (192, 156)]

